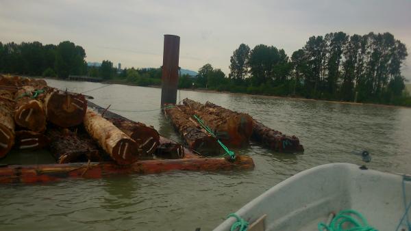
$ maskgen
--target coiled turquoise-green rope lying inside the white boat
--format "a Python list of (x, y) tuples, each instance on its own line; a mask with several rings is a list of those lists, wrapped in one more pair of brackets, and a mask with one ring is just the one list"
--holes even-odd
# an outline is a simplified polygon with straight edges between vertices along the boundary
[[(351, 216), (351, 215), (355, 216)], [(350, 228), (345, 229), (343, 226), (348, 224)], [(356, 210), (343, 210), (332, 219), (329, 226), (323, 222), (319, 223), (319, 231), (377, 231), (369, 226), (364, 216)]]

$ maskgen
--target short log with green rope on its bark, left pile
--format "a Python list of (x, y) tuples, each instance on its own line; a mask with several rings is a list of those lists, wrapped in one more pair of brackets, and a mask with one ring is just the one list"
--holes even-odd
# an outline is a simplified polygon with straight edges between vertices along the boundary
[[(46, 86), (38, 86), (40, 89)], [(40, 94), (33, 99), (33, 86), (24, 86), (16, 93), (16, 110), (14, 111), (14, 121), (18, 126), (27, 128), (30, 131), (43, 132), (46, 129), (46, 115), (42, 108), (41, 98), (45, 94)]]

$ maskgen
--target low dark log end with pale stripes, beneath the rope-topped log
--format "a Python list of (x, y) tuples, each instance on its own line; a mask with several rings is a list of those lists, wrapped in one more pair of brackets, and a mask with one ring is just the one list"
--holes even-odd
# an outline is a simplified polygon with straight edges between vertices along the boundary
[(15, 148), (36, 150), (49, 145), (49, 138), (34, 131), (16, 131)]

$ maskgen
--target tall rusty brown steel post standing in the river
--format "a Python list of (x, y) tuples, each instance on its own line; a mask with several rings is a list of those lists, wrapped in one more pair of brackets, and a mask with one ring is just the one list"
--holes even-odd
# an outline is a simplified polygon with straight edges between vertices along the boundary
[(161, 106), (177, 101), (179, 36), (164, 35)]

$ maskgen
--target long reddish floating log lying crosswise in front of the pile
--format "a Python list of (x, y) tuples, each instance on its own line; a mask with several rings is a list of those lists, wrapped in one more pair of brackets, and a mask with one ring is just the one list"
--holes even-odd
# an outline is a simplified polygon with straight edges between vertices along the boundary
[(62, 178), (102, 178), (118, 174), (159, 174), (175, 170), (216, 172), (253, 167), (253, 159), (245, 155), (237, 156), (234, 161), (226, 158), (161, 159), (137, 161), (125, 166), (112, 162), (8, 165), (0, 167), (0, 183), (51, 182)]

